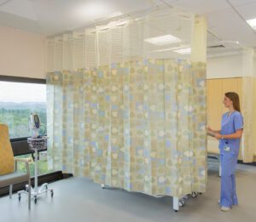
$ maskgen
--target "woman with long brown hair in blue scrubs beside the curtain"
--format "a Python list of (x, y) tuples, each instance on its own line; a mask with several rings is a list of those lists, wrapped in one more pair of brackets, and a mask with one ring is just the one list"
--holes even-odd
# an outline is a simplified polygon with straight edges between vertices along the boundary
[(224, 94), (224, 106), (229, 109), (222, 116), (221, 129), (208, 128), (216, 139), (219, 139), (221, 188), (220, 209), (230, 211), (232, 206), (238, 205), (236, 196), (236, 162), (243, 128), (243, 117), (240, 111), (238, 94), (229, 92)]

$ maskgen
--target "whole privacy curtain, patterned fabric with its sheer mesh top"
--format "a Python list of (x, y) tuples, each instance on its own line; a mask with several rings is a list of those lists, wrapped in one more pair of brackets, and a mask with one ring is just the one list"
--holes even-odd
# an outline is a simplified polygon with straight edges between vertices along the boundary
[(49, 39), (49, 162), (127, 191), (206, 191), (206, 63), (176, 52), (191, 46), (194, 16), (110, 24)]

